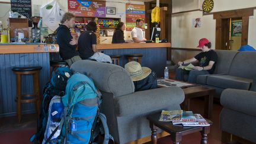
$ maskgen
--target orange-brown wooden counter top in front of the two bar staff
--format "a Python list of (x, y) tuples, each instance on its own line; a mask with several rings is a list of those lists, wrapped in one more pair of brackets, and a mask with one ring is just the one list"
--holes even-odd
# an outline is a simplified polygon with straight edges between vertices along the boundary
[(140, 49), (140, 48), (171, 47), (171, 43), (117, 43), (117, 44), (97, 44), (98, 50), (107, 49)]

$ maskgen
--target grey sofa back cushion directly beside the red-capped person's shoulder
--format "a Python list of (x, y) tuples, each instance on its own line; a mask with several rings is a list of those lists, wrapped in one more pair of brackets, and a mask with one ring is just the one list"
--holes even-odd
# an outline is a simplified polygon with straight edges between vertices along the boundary
[(225, 73), (229, 72), (233, 58), (236, 56), (238, 51), (232, 50), (215, 50), (217, 53), (218, 59), (215, 66), (214, 73)]

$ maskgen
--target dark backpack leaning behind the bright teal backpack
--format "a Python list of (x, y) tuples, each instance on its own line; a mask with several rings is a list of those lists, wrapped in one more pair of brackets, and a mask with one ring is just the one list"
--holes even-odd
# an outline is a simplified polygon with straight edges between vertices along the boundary
[(66, 83), (68, 78), (73, 74), (68, 66), (57, 67), (52, 72), (52, 78), (43, 89), (43, 100), (41, 102), (41, 110), (37, 119), (37, 132), (30, 137), (30, 142), (41, 143), (46, 130), (49, 104), (55, 95), (65, 95)]

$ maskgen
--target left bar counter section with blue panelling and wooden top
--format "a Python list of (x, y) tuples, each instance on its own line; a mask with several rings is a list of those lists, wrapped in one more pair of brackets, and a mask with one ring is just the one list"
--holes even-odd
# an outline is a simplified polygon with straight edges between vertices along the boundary
[[(49, 52), (58, 52), (57, 44), (12, 44), (0, 43), (0, 117), (15, 116), (16, 113), (16, 76), (14, 66), (41, 66), (40, 91), (50, 80)], [(32, 76), (23, 76), (23, 94), (33, 92)], [(23, 104), (23, 114), (33, 113), (34, 104)]]

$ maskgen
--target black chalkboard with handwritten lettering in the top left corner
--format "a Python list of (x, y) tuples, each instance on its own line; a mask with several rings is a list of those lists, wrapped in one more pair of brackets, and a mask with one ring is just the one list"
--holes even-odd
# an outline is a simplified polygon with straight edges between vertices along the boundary
[(18, 12), (28, 18), (28, 26), (32, 27), (31, 0), (11, 0), (11, 11)]

